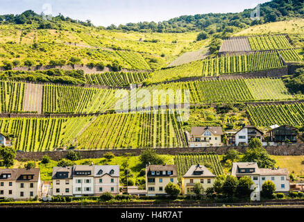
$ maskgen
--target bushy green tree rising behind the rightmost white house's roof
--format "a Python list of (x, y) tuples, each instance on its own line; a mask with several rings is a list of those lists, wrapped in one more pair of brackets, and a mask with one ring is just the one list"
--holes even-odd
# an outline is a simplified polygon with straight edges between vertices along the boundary
[(243, 162), (257, 162), (260, 168), (271, 168), (276, 164), (276, 160), (271, 159), (264, 148), (248, 149), (243, 157)]

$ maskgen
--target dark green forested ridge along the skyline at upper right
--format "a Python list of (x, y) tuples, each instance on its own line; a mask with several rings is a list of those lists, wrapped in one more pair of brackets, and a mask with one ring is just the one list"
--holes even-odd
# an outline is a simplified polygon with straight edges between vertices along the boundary
[(246, 9), (239, 13), (209, 13), (203, 15), (183, 15), (164, 22), (139, 22), (126, 25), (111, 25), (108, 29), (159, 32), (159, 33), (185, 33), (188, 31), (205, 31), (213, 33), (232, 33), (235, 29), (245, 28), (256, 24), (278, 22), (290, 17), (302, 17), (304, 15), (304, 3), (302, 0), (273, 0), (260, 5), (259, 20), (251, 20), (251, 12), (254, 9)]

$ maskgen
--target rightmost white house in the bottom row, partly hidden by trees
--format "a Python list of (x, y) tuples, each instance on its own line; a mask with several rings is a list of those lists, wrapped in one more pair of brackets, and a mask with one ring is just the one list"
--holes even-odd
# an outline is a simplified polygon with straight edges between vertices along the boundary
[(262, 191), (262, 185), (267, 180), (271, 180), (276, 185), (276, 192), (285, 194), (289, 192), (290, 179), (286, 168), (263, 169), (257, 167), (256, 162), (234, 162), (231, 175), (238, 179), (249, 176), (257, 185), (255, 190), (258, 192)]

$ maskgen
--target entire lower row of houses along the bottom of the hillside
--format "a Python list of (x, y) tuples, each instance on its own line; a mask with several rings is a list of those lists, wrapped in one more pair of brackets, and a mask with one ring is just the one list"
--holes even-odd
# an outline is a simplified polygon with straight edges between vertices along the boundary
[[(258, 200), (262, 184), (271, 180), (276, 192), (289, 192), (287, 169), (260, 169), (256, 162), (234, 162), (231, 175), (238, 179), (249, 176), (255, 184)], [(201, 164), (192, 165), (178, 183), (176, 165), (146, 166), (146, 189), (129, 187), (128, 194), (137, 196), (166, 195), (165, 187), (172, 182), (181, 187), (183, 195), (194, 195), (194, 185), (200, 183), (204, 190), (213, 187), (217, 179)], [(0, 169), (0, 198), (15, 200), (45, 197), (44, 182), (40, 179), (40, 169)], [(52, 186), (49, 196), (100, 196), (104, 192), (120, 194), (118, 165), (75, 165), (73, 167), (53, 167)]]

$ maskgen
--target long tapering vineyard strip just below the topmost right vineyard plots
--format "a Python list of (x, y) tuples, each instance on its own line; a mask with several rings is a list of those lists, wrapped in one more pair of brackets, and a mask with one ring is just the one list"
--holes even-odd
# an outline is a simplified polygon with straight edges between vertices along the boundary
[(239, 74), (281, 67), (284, 67), (284, 65), (276, 51), (248, 53), (248, 55), (242, 56), (219, 56), (154, 71), (150, 78), (146, 80), (146, 83), (160, 83), (196, 76)]

